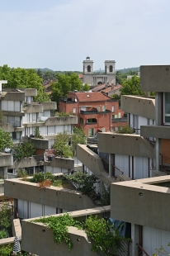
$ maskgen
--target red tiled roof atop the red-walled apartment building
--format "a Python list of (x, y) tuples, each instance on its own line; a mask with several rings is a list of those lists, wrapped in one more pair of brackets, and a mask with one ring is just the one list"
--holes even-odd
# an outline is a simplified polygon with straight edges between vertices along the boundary
[(78, 102), (103, 102), (111, 97), (108, 97), (102, 92), (75, 92)]

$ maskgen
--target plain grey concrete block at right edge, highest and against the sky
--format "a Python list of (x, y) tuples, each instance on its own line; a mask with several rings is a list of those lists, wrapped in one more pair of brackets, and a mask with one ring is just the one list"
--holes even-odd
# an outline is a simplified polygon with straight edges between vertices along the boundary
[(140, 89), (144, 92), (170, 92), (170, 65), (140, 66)]

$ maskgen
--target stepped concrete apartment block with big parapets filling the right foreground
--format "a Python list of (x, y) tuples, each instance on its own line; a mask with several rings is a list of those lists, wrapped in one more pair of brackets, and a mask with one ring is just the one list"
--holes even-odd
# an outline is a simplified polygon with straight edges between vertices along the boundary
[[(98, 134), (98, 149), (100, 152), (108, 154), (109, 165), (106, 175), (100, 172), (100, 168), (102, 169), (100, 156), (91, 149), (86, 149), (85, 145), (78, 145), (78, 159), (84, 159), (83, 164), (87, 166), (88, 170), (95, 173), (96, 169), (95, 174), (98, 177), (107, 181), (110, 179), (111, 218), (129, 222), (131, 225), (131, 242), (125, 255), (153, 255), (156, 253), (155, 249), (159, 249), (162, 245), (169, 252), (170, 178), (163, 175), (169, 172), (169, 70), (170, 66), (142, 66), (140, 69), (141, 89), (146, 92), (156, 92), (155, 102), (151, 98), (124, 96), (122, 107), (130, 105), (128, 111), (130, 124), (135, 126), (136, 133), (140, 127), (140, 134)], [(128, 101), (131, 104), (127, 104)], [(120, 162), (126, 161), (125, 172), (129, 175), (118, 173), (120, 169), (112, 164), (115, 161), (119, 165), (117, 159), (123, 157), (124, 160), (122, 159)], [(141, 162), (143, 164), (139, 165), (141, 160), (139, 158), (143, 159)], [(138, 162), (138, 165), (135, 164), (135, 161)], [(152, 163), (152, 169), (150, 163)], [(124, 182), (119, 183), (118, 181)], [(104, 216), (103, 209), (99, 208), (75, 211), (72, 214), (74, 217), (83, 218), (89, 212), (91, 214), (96, 212)], [(106, 209), (104, 212), (106, 213)], [(86, 235), (72, 228), (68, 229), (68, 232), (73, 239), (73, 251), (70, 254), (91, 255)], [(31, 253), (45, 255), (46, 249), (51, 256), (68, 254), (65, 251), (64, 243), (54, 244), (51, 230), (46, 230), (45, 225), (30, 223), (29, 220), (22, 221), (22, 241), (23, 249), (31, 250)], [(37, 244), (44, 243), (45, 248), (37, 246)]]

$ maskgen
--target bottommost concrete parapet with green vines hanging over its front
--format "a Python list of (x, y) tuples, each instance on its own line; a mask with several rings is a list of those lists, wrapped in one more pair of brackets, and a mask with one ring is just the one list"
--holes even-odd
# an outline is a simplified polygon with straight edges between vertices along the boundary
[[(84, 220), (87, 216), (97, 215), (99, 218), (110, 215), (110, 206), (74, 211), (70, 213), (73, 218)], [(55, 215), (59, 216), (59, 215)], [(36, 218), (37, 219), (37, 218)], [(30, 220), (22, 220), (22, 249), (38, 254), (40, 256), (97, 256), (92, 253), (92, 244), (87, 239), (87, 234), (83, 230), (75, 227), (68, 227), (68, 234), (73, 242), (73, 249), (68, 252), (68, 245), (62, 241), (61, 244), (54, 242), (52, 230), (41, 223), (32, 223)]]

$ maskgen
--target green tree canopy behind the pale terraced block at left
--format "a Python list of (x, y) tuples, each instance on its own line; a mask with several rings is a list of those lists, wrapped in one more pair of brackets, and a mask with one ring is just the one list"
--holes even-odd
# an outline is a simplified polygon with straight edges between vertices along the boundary
[(35, 72), (35, 69), (9, 68), (7, 64), (0, 66), (0, 80), (7, 80), (3, 88), (36, 88), (35, 101), (49, 102), (50, 97), (42, 85), (43, 79)]

